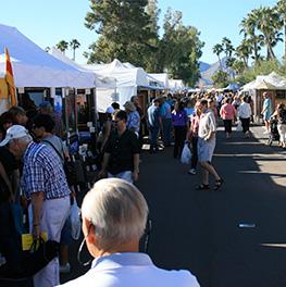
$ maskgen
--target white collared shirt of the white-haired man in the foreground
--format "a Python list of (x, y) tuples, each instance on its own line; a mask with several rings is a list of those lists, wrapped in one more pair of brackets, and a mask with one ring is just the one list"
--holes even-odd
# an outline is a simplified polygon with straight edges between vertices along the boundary
[(157, 267), (145, 253), (114, 253), (95, 259), (91, 269), (62, 287), (199, 287), (189, 271)]

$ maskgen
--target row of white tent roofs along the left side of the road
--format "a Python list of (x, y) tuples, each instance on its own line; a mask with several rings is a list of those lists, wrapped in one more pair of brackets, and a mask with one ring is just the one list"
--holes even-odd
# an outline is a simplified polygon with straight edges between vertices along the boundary
[[(144, 68), (114, 60), (109, 64), (79, 65), (57, 49), (50, 53), (16, 28), (0, 24), (0, 77), (5, 73), (4, 48), (9, 49), (17, 88), (96, 88), (97, 109), (104, 111), (111, 102), (121, 105), (137, 89), (183, 89), (182, 82), (167, 74), (147, 74)], [(53, 95), (51, 95), (53, 96)]]

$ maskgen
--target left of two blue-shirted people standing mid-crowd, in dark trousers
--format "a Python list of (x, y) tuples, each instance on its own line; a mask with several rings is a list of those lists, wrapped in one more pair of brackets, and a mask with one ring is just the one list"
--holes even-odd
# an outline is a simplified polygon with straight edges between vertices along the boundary
[(160, 100), (154, 99), (152, 104), (147, 110), (147, 125), (149, 129), (149, 139), (150, 139), (150, 153), (158, 151), (158, 135), (160, 130)]

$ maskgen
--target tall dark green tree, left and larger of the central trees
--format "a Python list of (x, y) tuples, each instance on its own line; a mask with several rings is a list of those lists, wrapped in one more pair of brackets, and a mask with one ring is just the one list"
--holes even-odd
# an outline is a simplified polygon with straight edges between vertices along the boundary
[(146, 66), (156, 48), (148, 0), (90, 0), (85, 25), (100, 35), (91, 45), (88, 62), (111, 62), (117, 58), (136, 66)]

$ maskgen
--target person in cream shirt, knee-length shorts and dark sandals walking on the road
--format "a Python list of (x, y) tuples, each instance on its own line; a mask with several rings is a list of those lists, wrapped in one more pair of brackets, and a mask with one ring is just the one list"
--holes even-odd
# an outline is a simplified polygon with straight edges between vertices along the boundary
[(215, 148), (216, 125), (213, 112), (208, 110), (207, 100), (201, 101), (201, 112), (202, 113), (198, 132), (198, 159), (202, 167), (202, 184), (197, 186), (197, 189), (210, 189), (209, 174), (211, 174), (215, 179), (213, 190), (217, 190), (222, 186), (224, 180), (211, 164), (213, 151)]

